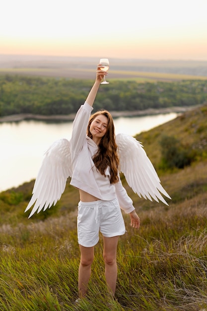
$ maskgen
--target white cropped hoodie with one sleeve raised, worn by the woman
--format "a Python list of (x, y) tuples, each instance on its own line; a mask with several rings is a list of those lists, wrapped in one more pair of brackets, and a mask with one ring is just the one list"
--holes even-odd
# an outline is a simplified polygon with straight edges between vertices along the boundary
[(81, 105), (72, 125), (70, 151), (72, 161), (72, 177), (70, 184), (94, 197), (109, 201), (117, 197), (121, 209), (125, 213), (135, 210), (133, 201), (128, 196), (119, 177), (119, 182), (110, 183), (109, 167), (106, 177), (95, 167), (92, 160), (98, 151), (98, 146), (86, 135), (90, 114), (93, 108), (85, 102)]

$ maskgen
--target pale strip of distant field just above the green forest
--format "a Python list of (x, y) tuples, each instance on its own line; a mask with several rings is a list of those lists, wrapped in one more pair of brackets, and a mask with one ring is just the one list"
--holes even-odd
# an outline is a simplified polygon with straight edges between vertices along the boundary
[[(77, 68), (1, 68), (0, 74), (11, 75), (27, 75), (39, 77), (55, 77), (55, 78), (77, 78), (77, 79), (93, 79), (95, 78), (94, 69), (77, 69)], [(189, 79), (205, 79), (205, 76), (179, 75), (155, 72), (136, 72), (136, 71), (119, 71), (111, 70), (108, 74), (109, 79), (135, 79), (138, 81), (179, 81)]]

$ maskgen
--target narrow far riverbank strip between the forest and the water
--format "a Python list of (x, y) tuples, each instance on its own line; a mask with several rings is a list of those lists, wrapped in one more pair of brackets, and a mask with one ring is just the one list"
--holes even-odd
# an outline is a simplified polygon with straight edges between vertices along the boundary
[[(186, 111), (190, 111), (199, 107), (201, 105), (196, 106), (188, 106), (188, 107), (169, 107), (169, 108), (160, 108), (153, 109), (149, 108), (146, 110), (135, 110), (135, 111), (110, 111), (113, 118), (120, 117), (137, 117), (137, 116), (149, 116), (156, 114), (166, 114), (166, 113), (183, 113)], [(75, 113), (71, 113), (68, 115), (51, 115), (44, 116), (39, 114), (31, 114), (31, 113), (21, 113), (14, 114), (10, 116), (0, 117), (0, 123), (4, 122), (20, 122), (23, 120), (38, 120), (38, 121), (73, 121), (75, 117)]]

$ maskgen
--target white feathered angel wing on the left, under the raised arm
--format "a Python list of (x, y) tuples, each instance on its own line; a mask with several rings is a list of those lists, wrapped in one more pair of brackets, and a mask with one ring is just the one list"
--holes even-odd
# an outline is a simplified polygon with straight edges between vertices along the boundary
[(45, 211), (55, 205), (66, 188), (67, 178), (72, 175), (70, 143), (67, 139), (54, 142), (44, 155), (31, 200), (25, 209), (27, 212), (35, 203), (29, 218), (36, 211), (39, 213), (43, 208)]

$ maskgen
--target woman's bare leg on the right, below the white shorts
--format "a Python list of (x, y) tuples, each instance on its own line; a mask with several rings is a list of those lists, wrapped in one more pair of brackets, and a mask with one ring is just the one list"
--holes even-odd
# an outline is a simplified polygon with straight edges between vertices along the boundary
[(105, 261), (105, 276), (108, 290), (112, 296), (115, 295), (117, 284), (117, 244), (119, 236), (103, 237)]

